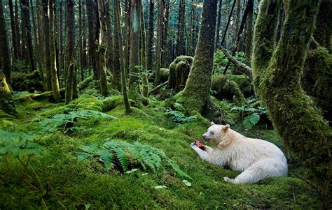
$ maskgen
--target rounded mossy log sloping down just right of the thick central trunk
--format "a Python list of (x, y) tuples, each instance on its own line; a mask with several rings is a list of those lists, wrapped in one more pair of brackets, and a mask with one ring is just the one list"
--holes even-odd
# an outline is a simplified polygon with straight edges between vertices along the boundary
[(211, 89), (216, 91), (214, 96), (219, 100), (228, 99), (234, 100), (238, 105), (247, 104), (247, 100), (244, 98), (239, 85), (233, 80), (230, 80), (228, 75), (218, 75), (213, 77)]

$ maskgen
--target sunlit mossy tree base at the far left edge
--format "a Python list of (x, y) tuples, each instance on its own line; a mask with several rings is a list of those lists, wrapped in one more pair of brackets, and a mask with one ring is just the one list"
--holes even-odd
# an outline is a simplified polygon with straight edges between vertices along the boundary
[(6, 82), (6, 77), (3, 73), (0, 73), (0, 110), (8, 114), (15, 114), (16, 108), (13, 97), (11, 96), (11, 90)]

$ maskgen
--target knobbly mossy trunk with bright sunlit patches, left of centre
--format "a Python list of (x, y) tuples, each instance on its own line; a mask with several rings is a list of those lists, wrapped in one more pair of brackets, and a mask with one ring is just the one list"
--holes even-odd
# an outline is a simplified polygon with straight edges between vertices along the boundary
[(99, 12), (99, 22), (100, 22), (100, 39), (99, 39), (99, 47), (98, 47), (98, 58), (99, 58), (99, 87), (100, 92), (103, 96), (109, 95), (109, 87), (107, 87), (106, 80), (106, 68), (107, 61), (109, 60), (108, 56), (108, 29), (106, 23), (106, 13), (109, 10), (109, 0), (98, 0), (98, 12)]

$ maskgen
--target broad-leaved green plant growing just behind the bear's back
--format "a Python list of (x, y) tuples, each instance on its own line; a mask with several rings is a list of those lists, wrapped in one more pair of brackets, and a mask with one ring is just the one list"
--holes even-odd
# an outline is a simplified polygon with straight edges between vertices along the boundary
[[(248, 98), (249, 103), (256, 102), (256, 98)], [(242, 125), (247, 130), (253, 128), (258, 123), (262, 114), (266, 114), (265, 107), (250, 107), (249, 105), (242, 105), (240, 107), (233, 107), (230, 111), (240, 112)]]

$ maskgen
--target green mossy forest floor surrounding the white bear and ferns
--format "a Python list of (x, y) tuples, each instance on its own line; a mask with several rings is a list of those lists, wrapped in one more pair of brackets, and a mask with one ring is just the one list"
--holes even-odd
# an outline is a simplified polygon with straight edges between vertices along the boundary
[[(25, 94), (16, 93), (15, 98)], [(150, 99), (147, 106), (133, 105), (130, 115), (124, 114), (122, 96), (96, 98), (89, 95), (82, 95), (69, 105), (24, 100), (17, 103), (19, 114), (15, 118), (0, 112), (3, 134), (16, 133), (20, 140), (34, 135), (34, 142), (43, 147), (43, 152), (34, 155), (22, 153), (15, 157), (15, 153), (4, 155), (6, 151), (0, 152), (4, 156), (0, 165), (0, 209), (321, 207), (316, 190), (296, 176), (304, 176), (303, 168), (293, 158), (289, 158), (289, 177), (264, 179), (256, 184), (226, 183), (223, 177), (234, 178), (240, 172), (207, 163), (190, 147), (194, 139), (200, 140), (209, 122), (198, 117), (177, 125), (165, 114), (165, 102)], [(218, 103), (230, 112), (231, 104), (226, 101)], [(82, 110), (97, 112), (85, 117), (66, 118), (66, 115)], [(99, 112), (114, 118), (101, 116)], [(231, 128), (234, 130), (282, 148), (275, 130), (267, 129), (264, 123), (245, 130), (238, 114), (229, 116), (233, 117)], [(139, 170), (125, 173), (116, 163), (107, 169), (96, 157), (78, 161), (84, 145), (102, 143), (109, 138), (161, 149), (192, 180), (181, 177), (167, 164), (153, 172), (128, 160), (127, 170)]]

